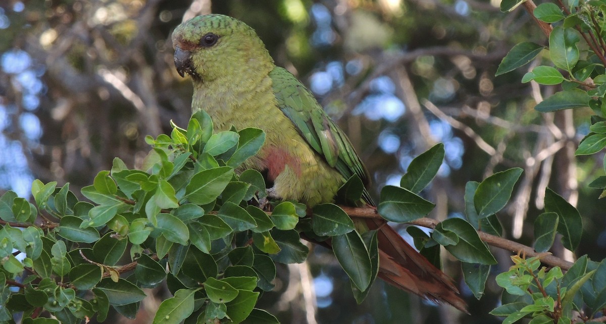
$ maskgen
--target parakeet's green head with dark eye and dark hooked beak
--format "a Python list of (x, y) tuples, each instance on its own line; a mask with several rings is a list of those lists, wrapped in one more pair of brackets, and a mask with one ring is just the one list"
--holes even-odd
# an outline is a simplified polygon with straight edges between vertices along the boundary
[(182, 22), (173, 32), (179, 75), (212, 81), (229, 73), (271, 69), (273, 59), (255, 30), (225, 15), (205, 15)]

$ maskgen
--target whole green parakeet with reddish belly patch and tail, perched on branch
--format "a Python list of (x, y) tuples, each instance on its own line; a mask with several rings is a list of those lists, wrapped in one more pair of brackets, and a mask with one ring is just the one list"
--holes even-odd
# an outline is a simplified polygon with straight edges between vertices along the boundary
[[(245, 168), (267, 172), (270, 196), (313, 208), (334, 200), (352, 175), (368, 183), (368, 172), (344, 132), (307, 88), (275, 66), (255, 30), (224, 15), (198, 16), (179, 25), (172, 36), (175, 66), (193, 80), (192, 109), (204, 109), (215, 130), (257, 127), (265, 144)], [(362, 199), (373, 205), (364, 191)], [(379, 229), (379, 277), (462, 311), (456, 287), (384, 220), (367, 220)]]

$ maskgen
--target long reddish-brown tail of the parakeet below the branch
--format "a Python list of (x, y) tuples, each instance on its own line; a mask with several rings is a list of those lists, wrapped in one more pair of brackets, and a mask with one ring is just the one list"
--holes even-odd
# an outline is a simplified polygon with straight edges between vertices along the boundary
[(370, 229), (379, 229), (379, 278), (405, 291), (436, 302), (444, 301), (462, 312), (467, 304), (453, 280), (413, 249), (386, 221), (369, 219)]

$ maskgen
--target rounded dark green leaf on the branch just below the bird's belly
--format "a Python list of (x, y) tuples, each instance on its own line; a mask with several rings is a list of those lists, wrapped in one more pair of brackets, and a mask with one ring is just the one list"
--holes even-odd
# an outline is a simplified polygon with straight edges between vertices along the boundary
[(353, 221), (336, 204), (321, 204), (313, 208), (311, 228), (319, 236), (337, 236), (353, 231)]

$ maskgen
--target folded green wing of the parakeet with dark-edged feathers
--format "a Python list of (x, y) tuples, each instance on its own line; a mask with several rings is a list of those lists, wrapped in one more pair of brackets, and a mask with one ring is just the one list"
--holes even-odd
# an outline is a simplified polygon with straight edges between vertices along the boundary
[[(281, 67), (275, 67), (269, 76), (279, 109), (295, 124), (307, 143), (345, 179), (355, 174), (368, 185), (370, 176), (364, 163), (347, 136), (330, 119), (313, 94), (301, 81)], [(362, 197), (368, 203), (373, 203), (366, 189)]]

